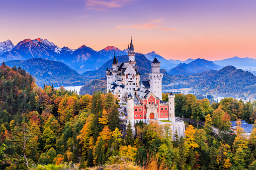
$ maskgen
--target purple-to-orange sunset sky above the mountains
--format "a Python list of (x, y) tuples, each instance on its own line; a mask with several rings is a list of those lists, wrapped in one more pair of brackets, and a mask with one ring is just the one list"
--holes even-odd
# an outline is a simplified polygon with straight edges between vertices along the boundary
[(155, 51), (166, 59), (256, 59), (254, 0), (0, 0), (0, 42)]

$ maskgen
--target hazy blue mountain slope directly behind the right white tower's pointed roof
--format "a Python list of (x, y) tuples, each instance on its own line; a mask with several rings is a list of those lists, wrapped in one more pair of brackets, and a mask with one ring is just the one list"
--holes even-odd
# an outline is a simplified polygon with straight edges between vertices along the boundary
[(177, 64), (166, 60), (165, 58), (163, 58), (163, 57), (159, 56), (158, 54), (156, 54), (154, 51), (152, 51), (150, 53), (147, 53), (147, 54), (144, 54), (144, 56), (148, 60), (150, 60), (150, 61), (153, 61), (154, 58), (156, 57), (157, 60), (159, 62), (161, 62), (161, 67), (160, 68), (165, 69), (165, 70), (170, 70), (170, 69), (172, 69), (172, 68), (177, 66)]

